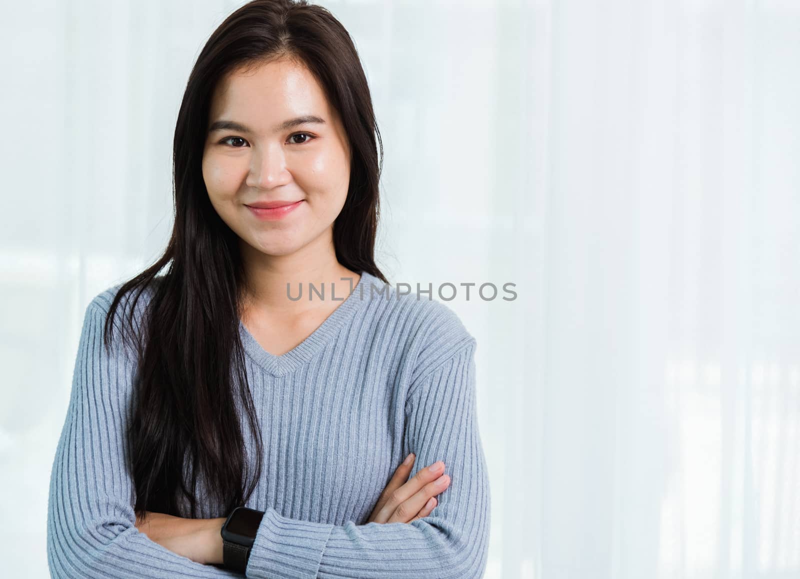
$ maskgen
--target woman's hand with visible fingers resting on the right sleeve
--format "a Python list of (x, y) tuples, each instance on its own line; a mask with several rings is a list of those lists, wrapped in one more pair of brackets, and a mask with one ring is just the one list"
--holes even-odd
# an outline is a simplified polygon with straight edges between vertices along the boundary
[[(414, 478), (406, 482), (416, 458), (410, 454), (394, 471), (392, 480), (378, 497), (367, 523), (410, 523), (427, 517), (434, 510), (438, 502), (435, 497), (450, 486), (450, 476), (443, 474), (445, 464), (437, 460), (430, 467), (420, 469)], [(438, 469), (431, 470), (435, 467)]]

